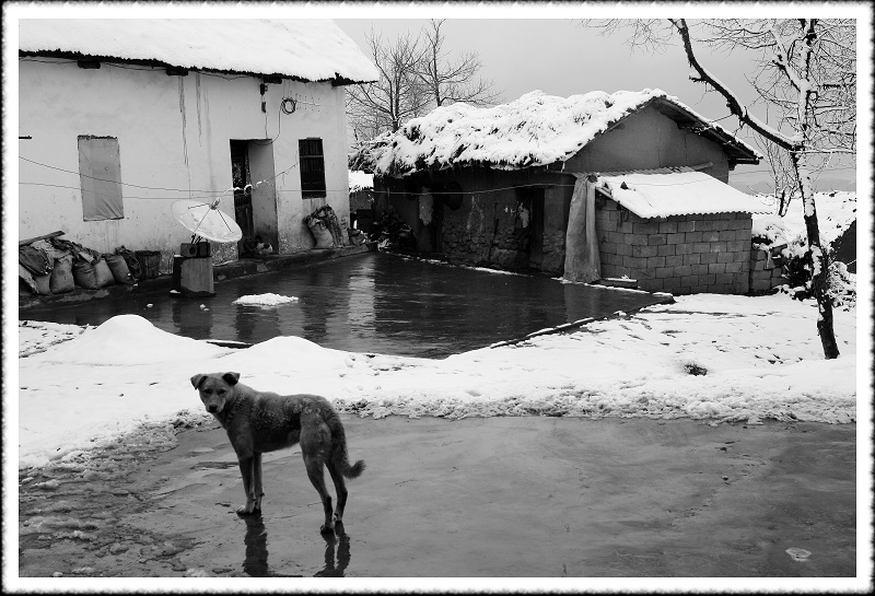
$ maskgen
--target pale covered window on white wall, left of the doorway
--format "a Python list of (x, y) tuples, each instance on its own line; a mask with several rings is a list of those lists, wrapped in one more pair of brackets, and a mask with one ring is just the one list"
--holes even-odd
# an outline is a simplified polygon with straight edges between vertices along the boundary
[(125, 218), (118, 139), (86, 135), (79, 137), (79, 180), (84, 221)]

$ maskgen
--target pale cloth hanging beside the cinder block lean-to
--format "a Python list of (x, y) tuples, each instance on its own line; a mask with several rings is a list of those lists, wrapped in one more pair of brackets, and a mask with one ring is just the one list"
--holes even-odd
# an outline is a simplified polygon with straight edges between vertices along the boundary
[(574, 174), (574, 194), (565, 230), (565, 270), (569, 281), (590, 283), (602, 279), (602, 259), (595, 234), (595, 185), (587, 174)]

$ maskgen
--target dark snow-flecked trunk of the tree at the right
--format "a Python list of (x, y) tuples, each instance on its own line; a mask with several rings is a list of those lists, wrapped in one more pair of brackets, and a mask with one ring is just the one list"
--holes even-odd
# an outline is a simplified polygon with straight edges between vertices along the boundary
[(817, 301), (817, 332), (820, 336), (820, 344), (824, 347), (824, 357), (827, 360), (831, 360), (839, 358), (839, 347), (832, 329), (832, 297), (828, 292), (829, 255), (820, 245), (817, 209), (815, 208), (810, 176), (808, 168), (805, 166), (805, 154), (792, 152), (791, 159), (793, 168), (796, 171), (796, 179), (800, 180), (805, 230), (808, 234), (807, 260), (812, 267), (812, 290)]

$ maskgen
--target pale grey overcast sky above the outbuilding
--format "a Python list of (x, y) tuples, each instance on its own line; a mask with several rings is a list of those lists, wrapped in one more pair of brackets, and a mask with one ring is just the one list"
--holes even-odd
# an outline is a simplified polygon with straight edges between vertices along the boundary
[[(442, 10), (443, 9), (443, 10)], [(447, 16), (446, 9), (435, 7), (434, 17)], [(500, 9), (498, 11), (503, 12)], [(468, 14), (476, 17), (468, 17)], [(451, 57), (459, 51), (474, 51), (480, 57), (483, 78), (502, 92), (502, 101), (510, 102), (534, 90), (551, 95), (569, 96), (590, 91), (641, 91), (661, 89), (678, 97), (684, 104), (705, 118), (720, 124), (754, 144), (747, 130), (737, 130), (737, 120), (728, 117), (725, 101), (704, 85), (689, 80), (692, 70), (682, 47), (673, 45), (661, 54), (632, 49), (629, 32), (602, 35), (599, 31), (582, 26), (574, 11), (546, 11), (548, 16), (537, 19), (482, 19), (482, 10), (450, 11), (442, 27), (445, 49)], [(542, 16), (544, 14), (541, 14)], [(585, 12), (581, 12), (585, 15)], [(406, 32), (418, 34), (428, 24), (422, 19), (335, 19), (335, 22), (368, 51), (366, 35), (372, 31), (385, 40), (394, 40)], [(700, 55), (705, 67), (727, 84), (746, 103), (756, 98), (745, 80), (751, 62), (744, 55), (711, 52)], [(765, 112), (758, 116), (765, 117)], [(839, 178), (820, 185), (820, 190), (853, 190), (855, 171), (849, 163), (839, 164), (828, 176)], [(733, 182), (768, 180), (768, 165), (738, 166)], [(824, 180), (826, 182), (826, 180)], [(758, 188), (761, 189), (761, 188)]]

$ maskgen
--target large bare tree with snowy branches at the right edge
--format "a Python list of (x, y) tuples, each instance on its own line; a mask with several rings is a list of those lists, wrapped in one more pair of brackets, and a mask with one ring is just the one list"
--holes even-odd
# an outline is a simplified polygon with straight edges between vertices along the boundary
[[(747, 126), (774, 145), (771, 165), (777, 194), (803, 201), (808, 236), (806, 266), (818, 305), (817, 330), (824, 355), (838, 358), (829, 295), (830, 255), (820, 242), (812, 178), (836, 154), (856, 150), (856, 28), (853, 20), (739, 20), (702, 21), (690, 25), (686, 19), (666, 21), (586, 22), (606, 33), (632, 28), (633, 45), (660, 49), (677, 35), (695, 72), (690, 79), (707, 85), (726, 100), (739, 126)], [(693, 27), (696, 34), (693, 33)], [(749, 50), (756, 68), (748, 82), (757, 102), (775, 112), (778, 124), (761, 120), (738, 96), (699, 60), (698, 47)], [(786, 159), (781, 159), (781, 153)]]

